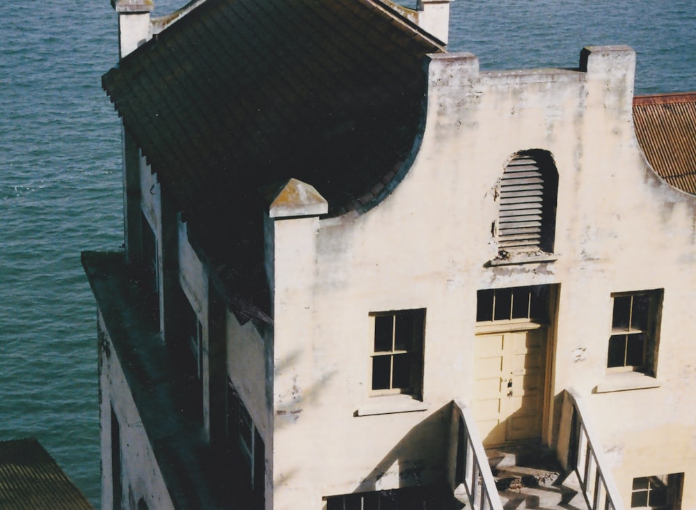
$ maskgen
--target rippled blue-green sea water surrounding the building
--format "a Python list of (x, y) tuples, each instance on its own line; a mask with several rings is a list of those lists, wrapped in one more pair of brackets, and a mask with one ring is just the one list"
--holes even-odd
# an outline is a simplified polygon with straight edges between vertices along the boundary
[[(155, 1), (156, 14), (183, 3)], [(583, 45), (625, 43), (637, 93), (695, 91), (695, 7), (457, 0), (450, 50), (484, 69), (575, 67)], [(95, 304), (79, 253), (122, 243), (120, 130), (100, 87), (117, 58), (109, 0), (0, 2), (0, 440), (38, 438), (97, 507)]]

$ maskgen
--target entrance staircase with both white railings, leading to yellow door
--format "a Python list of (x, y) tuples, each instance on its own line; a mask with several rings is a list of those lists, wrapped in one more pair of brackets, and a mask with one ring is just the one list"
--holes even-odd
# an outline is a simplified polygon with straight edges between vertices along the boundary
[(563, 392), (557, 452), (540, 444), (486, 451), (466, 403), (454, 399), (452, 405), (453, 508), (624, 510), (590, 413), (574, 389)]

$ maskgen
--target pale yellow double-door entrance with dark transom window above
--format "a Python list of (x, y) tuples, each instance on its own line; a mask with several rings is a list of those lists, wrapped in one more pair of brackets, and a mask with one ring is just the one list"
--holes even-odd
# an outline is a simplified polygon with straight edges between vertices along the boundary
[(486, 447), (541, 439), (550, 289), (479, 291), (473, 412)]

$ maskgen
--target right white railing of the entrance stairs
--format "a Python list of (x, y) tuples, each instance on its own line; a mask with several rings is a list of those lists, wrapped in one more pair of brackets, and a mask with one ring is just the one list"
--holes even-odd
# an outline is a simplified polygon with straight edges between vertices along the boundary
[(574, 389), (567, 389), (565, 395), (571, 410), (568, 467), (578, 475), (585, 502), (590, 510), (624, 510), (585, 402)]

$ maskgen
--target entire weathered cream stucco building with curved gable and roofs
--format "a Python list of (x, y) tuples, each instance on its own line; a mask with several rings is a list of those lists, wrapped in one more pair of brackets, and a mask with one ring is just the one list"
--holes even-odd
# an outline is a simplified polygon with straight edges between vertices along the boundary
[(525, 445), (696, 509), (696, 95), (625, 46), (481, 71), (447, 1), (112, 3), (105, 508), (502, 508)]

